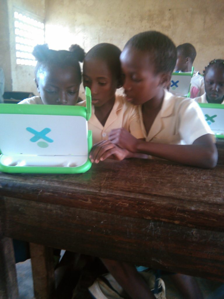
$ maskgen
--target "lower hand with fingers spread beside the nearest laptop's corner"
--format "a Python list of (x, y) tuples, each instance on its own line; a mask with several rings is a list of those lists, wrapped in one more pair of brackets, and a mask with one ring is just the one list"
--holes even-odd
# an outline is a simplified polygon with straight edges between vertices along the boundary
[(103, 161), (106, 158), (121, 161), (127, 156), (127, 150), (119, 148), (109, 140), (104, 140), (94, 144), (89, 158), (92, 163), (99, 163), (99, 161)]

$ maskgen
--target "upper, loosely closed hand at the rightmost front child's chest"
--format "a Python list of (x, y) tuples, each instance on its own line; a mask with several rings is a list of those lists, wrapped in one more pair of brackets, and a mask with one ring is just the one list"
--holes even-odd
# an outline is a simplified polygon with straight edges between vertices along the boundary
[(138, 139), (124, 128), (111, 130), (108, 140), (123, 149), (129, 150), (130, 152), (136, 152)]

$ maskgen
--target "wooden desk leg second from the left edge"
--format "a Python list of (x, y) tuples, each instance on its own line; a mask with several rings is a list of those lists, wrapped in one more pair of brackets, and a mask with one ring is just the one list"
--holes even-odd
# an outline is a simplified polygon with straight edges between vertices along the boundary
[(33, 288), (36, 299), (51, 299), (55, 289), (53, 248), (30, 243)]

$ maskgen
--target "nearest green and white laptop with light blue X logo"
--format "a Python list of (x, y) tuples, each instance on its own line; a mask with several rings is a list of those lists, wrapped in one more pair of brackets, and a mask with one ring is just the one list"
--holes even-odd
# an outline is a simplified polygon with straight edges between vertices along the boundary
[(83, 173), (90, 169), (91, 92), (86, 107), (0, 105), (0, 171)]

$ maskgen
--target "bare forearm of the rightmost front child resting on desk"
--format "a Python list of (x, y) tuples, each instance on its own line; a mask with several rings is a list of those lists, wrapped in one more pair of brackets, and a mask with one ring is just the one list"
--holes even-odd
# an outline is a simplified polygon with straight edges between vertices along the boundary
[(217, 149), (214, 144), (176, 145), (138, 140), (135, 151), (203, 168), (213, 168), (217, 164)]

